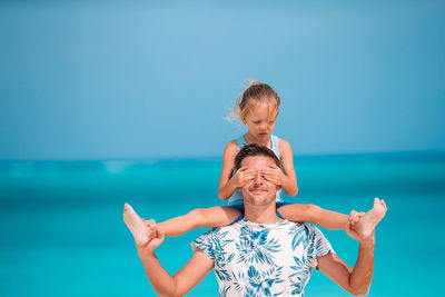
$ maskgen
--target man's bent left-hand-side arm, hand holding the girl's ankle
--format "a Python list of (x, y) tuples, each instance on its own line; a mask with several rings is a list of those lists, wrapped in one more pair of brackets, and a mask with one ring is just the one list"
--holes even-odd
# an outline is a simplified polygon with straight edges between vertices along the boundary
[(164, 232), (157, 227), (152, 227), (152, 230), (157, 236), (146, 246), (138, 247), (148, 280), (159, 296), (184, 296), (211, 271), (214, 261), (202, 250), (197, 249), (175, 276), (169, 275), (155, 255), (155, 248), (164, 241)]

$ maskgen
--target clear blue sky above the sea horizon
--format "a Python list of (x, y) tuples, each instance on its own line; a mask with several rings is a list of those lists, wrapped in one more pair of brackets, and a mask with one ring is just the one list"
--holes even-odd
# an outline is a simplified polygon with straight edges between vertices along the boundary
[(445, 150), (444, 1), (1, 1), (0, 160), (219, 157), (246, 78), (295, 155)]

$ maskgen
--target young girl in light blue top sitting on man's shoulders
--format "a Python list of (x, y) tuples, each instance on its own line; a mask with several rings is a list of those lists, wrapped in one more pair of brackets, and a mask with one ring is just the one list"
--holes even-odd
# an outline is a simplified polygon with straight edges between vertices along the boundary
[[(247, 126), (248, 131), (238, 139), (227, 143), (222, 156), (222, 170), (219, 180), (218, 196), (228, 199), (228, 206), (207, 209), (195, 209), (189, 214), (158, 224), (166, 236), (182, 235), (199, 227), (221, 227), (236, 220), (244, 209), (243, 196), (237, 190), (248, 184), (256, 175), (253, 169), (241, 167), (233, 172), (235, 156), (248, 143), (257, 143), (271, 149), (283, 164), (284, 171), (277, 166), (263, 170), (263, 177), (294, 197), (298, 192), (297, 178), (294, 169), (294, 157), (289, 142), (271, 135), (279, 112), (280, 99), (277, 92), (266, 83), (253, 81), (244, 91), (233, 111), (231, 118), (237, 118)], [(287, 204), (281, 199), (280, 190), (276, 196), (277, 210), (286, 219), (298, 222), (312, 222), (327, 229), (345, 229), (348, 216), (322, 209), (315, 205)], [(384, 217), (386, 207), (376, 200), (355, 227), (363, 238), (367, 237), (378, 221)]]

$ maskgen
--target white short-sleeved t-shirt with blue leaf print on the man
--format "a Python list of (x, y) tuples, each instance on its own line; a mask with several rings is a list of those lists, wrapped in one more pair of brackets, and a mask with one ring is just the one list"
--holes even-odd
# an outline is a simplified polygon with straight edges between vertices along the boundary
[(206, 232), (191, 247), (215, 261), (219, 296), (303, 296), (317, 257), (334, 253), (312, 225), (245, 218)]

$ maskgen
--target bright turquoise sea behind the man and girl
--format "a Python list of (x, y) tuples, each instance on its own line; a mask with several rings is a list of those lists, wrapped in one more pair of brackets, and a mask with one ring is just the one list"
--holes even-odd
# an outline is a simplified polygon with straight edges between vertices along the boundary
[[(382, 197), (369, 296), (444, 296), (445, 154), (296, 157), (299, 194), (288, 201), (349, 212)], [(1, 161), (0, 296), (156, 296), (122, 221), (125, 202), (158, 221), (217, 198), (219, 158)], [(354, 265), (357, 242), (322, 229)], [(171, 274), (206, 231), (167, 238), (158, 257)], [(188, 296), (217, 296), (211, 273)], [(349, 296), (314, 271), (306, 296)]]

